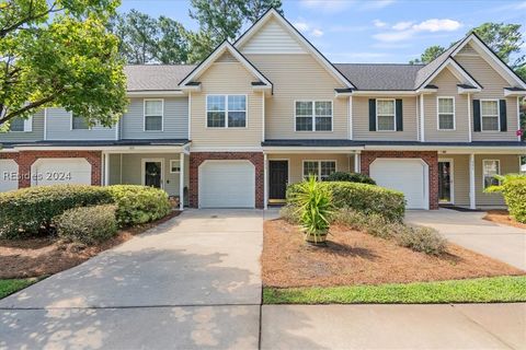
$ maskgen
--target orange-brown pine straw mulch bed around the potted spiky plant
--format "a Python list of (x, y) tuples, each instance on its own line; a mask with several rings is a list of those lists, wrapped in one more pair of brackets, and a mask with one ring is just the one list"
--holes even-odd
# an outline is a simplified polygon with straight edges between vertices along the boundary
[(265, 287), (407, 283), (526, 275), (504, 262), (449, 244), (428, 256), (344, 226), (332, 226), (327, 247), (304, 242), (297, 226), (266, 221), (262, 255)]

